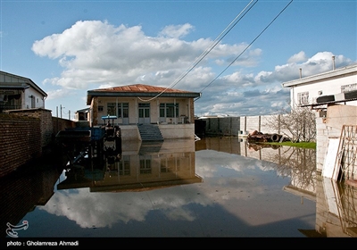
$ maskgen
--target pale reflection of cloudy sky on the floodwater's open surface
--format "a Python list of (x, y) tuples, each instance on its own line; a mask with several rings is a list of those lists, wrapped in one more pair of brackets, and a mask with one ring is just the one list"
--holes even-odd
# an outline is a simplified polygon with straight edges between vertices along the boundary
[(305, 209), (313, 211), (315, 204), (300, 204), (300, 197), (281, 191), (289, 179), (279, 178), (269, 165), (264, 167), (262, 161), (237, 154), (203, 150), (195, 152), (196, 174), (203, 183), (145, 192), (58, 190), (40, 209), (65, 216), (81, 228), (145, 222), (153, 212), (161, 212), (167, 221), (197, 221), (205, 208), (217, 205), (249, 225), (289, 220), (302, 216)]

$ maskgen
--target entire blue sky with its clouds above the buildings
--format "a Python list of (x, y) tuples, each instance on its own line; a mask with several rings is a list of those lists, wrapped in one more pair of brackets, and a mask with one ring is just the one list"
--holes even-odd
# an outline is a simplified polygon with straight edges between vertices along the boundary
[(32, 79), (46, 109), (56, 116), (62, 105), (71, 119), (88, 107), (87, 90), (137, 83), (202, 92), (198, 116), (276, 113), (289, 98), (281, 84), (300, 68), (330, 71), (332, 55), (336, 68), (357, 63), (355, 0), (0, 0), (0, 9), (0, 70)]

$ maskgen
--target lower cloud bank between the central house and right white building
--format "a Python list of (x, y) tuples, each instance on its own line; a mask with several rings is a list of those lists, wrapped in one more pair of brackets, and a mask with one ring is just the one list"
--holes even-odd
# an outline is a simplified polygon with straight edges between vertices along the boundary
[[(303, 59), (305, 54), (299, 53)], [(277, 65), (274, 71), (256, 74), (246, 69), (235, 71), (213, 82), (195, 102), (195, 109), (203, 114), (259, 115), (280, 112), (288, 108), (289, 89), (281, 87), (285, 81), (332, 70), (332, 53), (319, 52), (301, 63)], [(292, 56), (297, 61), (299, 56)], [(343, 55), (335, 55), (336, 68), (353, 63)]]

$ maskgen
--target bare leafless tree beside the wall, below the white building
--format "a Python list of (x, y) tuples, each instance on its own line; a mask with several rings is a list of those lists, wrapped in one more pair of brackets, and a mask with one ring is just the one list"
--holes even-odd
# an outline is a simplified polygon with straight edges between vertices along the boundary
[(267, 120), (270, 129), (277, 130), (292, 142), (310, 142), (316, 139), (315, 113), (309, 107), (282, 110)]

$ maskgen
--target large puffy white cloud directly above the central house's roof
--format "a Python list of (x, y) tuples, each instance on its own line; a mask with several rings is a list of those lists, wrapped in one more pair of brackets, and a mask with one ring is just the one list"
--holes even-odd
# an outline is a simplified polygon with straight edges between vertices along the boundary
[[(32, 50), (37, 55), (58, 60), (64, 68), (60, 77), (46, 79), (54, 85), (79, 89), (86, 89), (91, 83), (99, 86), (108, 82), (117, 86), (137, 82), (169, 86), (212, 46), (210, 39), (192, 42), (179, 39), (192, 29), (188, 23), (167, 26), (160, 33), (165, 37), (148, 37), (140, 26), (114, 27), (107, 21), (77, 21), (60, 34), (37, 40)], [(245, 46), (242, 43), (214, 47), (201, 62), (201, 68), (191, 71), (189, 77), (207, 81), (205, 76), (212, 78), (213, 74), (212, 69), (204, 66), (208, 60), (221, 60), (227, 65)], [(246, 64), (254, 64), (259, 54), (259, 49), (254, 50)], [(241, 60), (238, 64), (244, 62)]]

